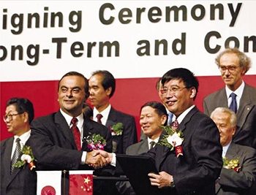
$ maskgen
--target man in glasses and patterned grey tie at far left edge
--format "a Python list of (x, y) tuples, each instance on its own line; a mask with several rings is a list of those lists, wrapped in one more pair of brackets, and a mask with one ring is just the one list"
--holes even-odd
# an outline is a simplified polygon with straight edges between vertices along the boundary
[(18, 152), (18, 148), (29, 145), (30, 123), (33, 118), (34, 108), (29, 99), (8, 100), (4, 122), (14, 137), (1, 141), (1, 195), (34, 195), (37, 192), (37, 175), (34, 169), (31, 170), (28, 163), (20, 168), (13, 166), (21, 161), (22, 152)]

